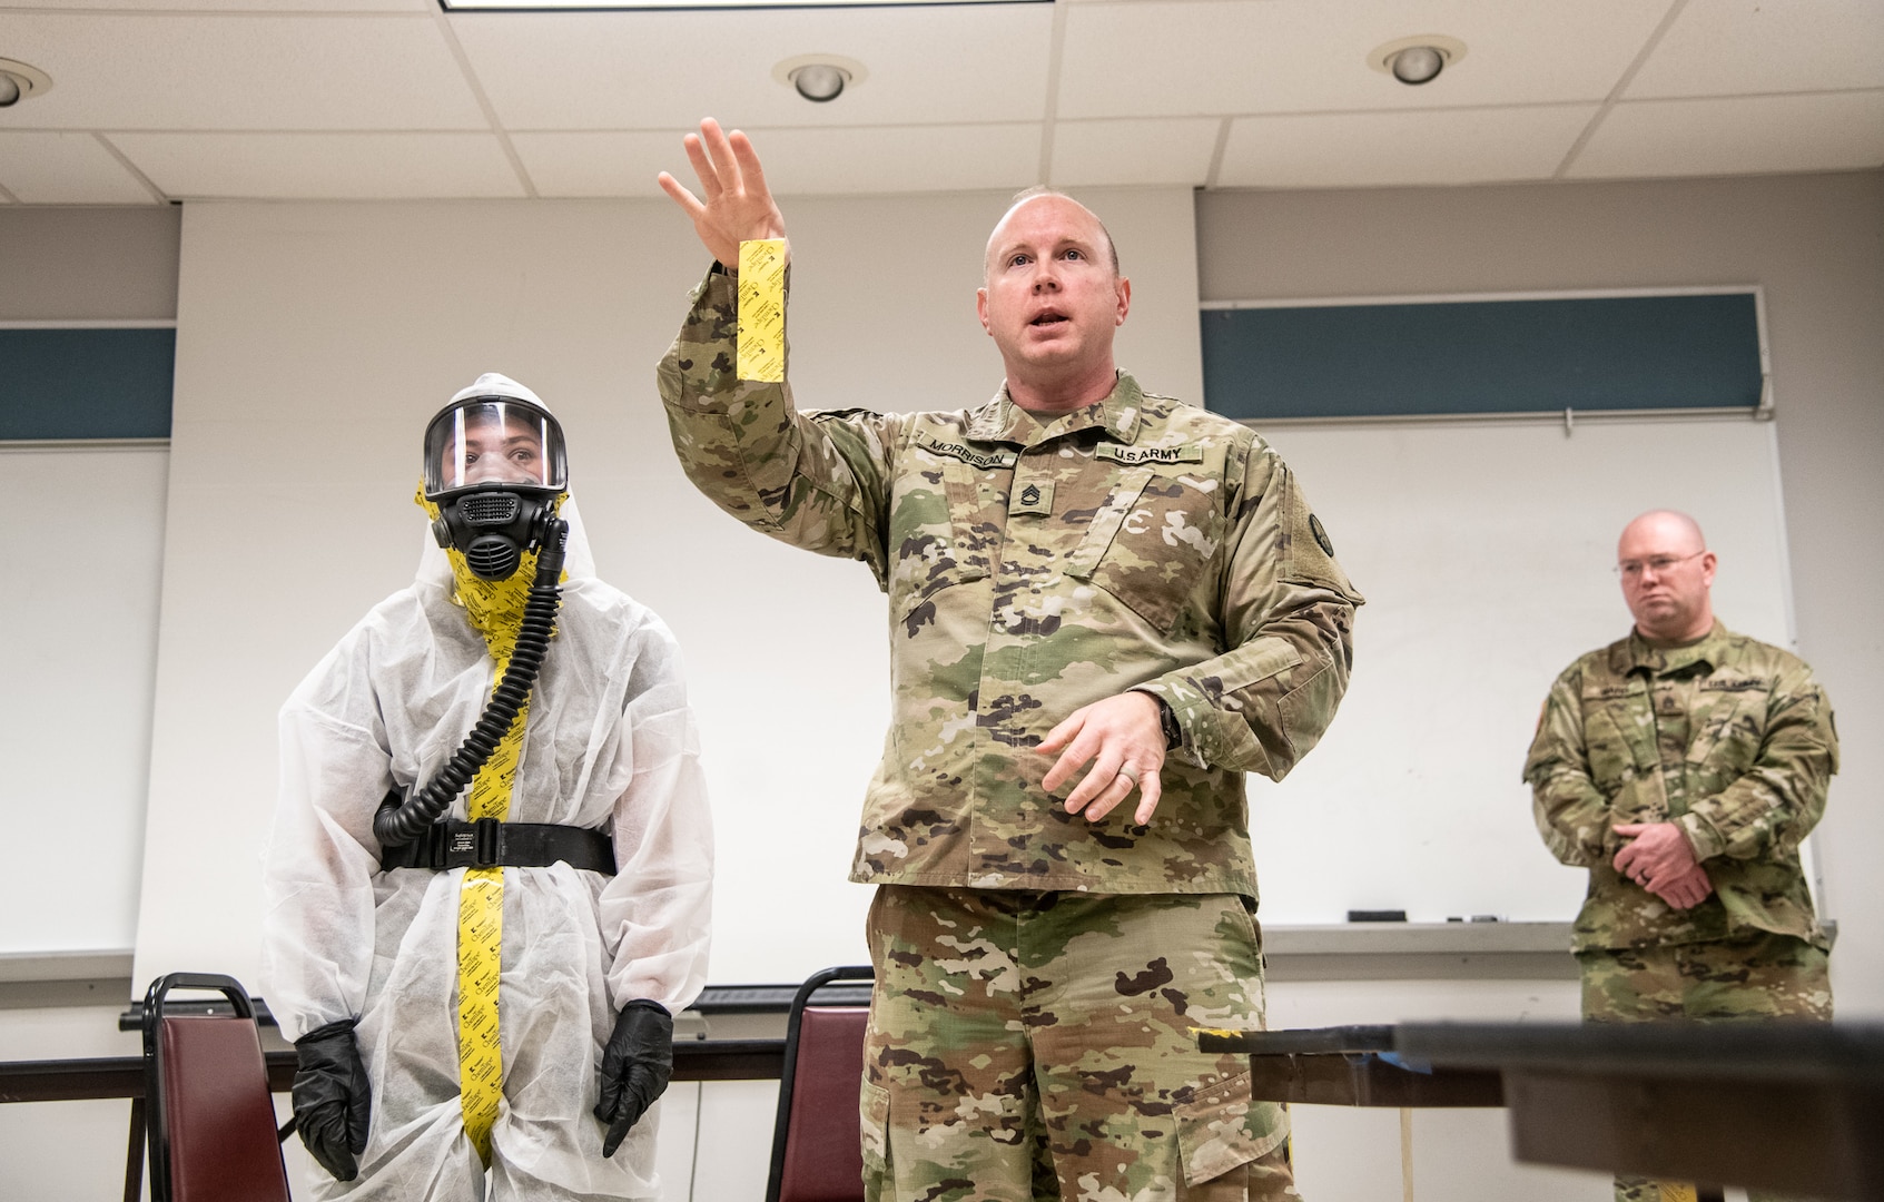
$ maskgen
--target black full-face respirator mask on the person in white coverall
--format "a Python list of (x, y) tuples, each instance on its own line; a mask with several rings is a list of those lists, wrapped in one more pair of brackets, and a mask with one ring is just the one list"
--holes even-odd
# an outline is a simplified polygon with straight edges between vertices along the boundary
[(484, 580), (507, 580), (543, 543), (567, 482), (563, 430), (524, 396), (460, 396), (426, 428), (426, 499), (439, 507), (431, 535)]

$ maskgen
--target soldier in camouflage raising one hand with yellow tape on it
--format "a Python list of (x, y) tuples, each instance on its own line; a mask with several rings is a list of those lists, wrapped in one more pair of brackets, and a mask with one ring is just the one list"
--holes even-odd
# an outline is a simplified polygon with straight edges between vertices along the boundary
[(1360, 597), (1300, 484), (1115, 369), (1130, 284), (1057, 194), (989, 241), (991, 401), (797, 411), (737, 379), (722, 264), (784, 220), (742, 134), (686, 143), (705, 202), (661, 185), (718, 262), (659, 365), (680, 462), (889, 597), (893, 723), (852, 869), (878, 885), (869, 1196), (1298, 1196), (1287, 1113), (1194, 1029), (1262, 1023), (1243, 772), (1279, 780), (1347, 686)]

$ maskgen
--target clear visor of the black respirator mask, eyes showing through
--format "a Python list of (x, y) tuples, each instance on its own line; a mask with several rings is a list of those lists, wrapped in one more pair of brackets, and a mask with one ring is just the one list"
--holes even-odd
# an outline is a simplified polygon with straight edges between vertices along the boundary
[(563, 431), (524, 401), (475, 398), (426, 430), (426, 495), (479, 484), (561, 490), (569, 482)]

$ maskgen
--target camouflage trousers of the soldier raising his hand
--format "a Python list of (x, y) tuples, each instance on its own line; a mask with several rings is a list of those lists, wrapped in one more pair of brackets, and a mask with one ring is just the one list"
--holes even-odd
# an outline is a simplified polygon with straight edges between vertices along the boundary
[(1289, 1113), (1196, 1027), (1262, 1027), (1238, 895), (882, 885), (865, 1042), (870, 1202), (1300, 1198)]

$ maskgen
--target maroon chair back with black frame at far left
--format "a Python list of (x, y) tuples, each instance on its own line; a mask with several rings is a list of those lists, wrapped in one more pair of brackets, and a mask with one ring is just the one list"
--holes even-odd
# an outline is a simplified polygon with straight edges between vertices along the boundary
[[(228, 1015), (166, 1015), (170, 989), (215, 989)], [(288, 1202), (254, 1008), (228, 976), (173, 972), (143, 999), (151, 1202)]]

